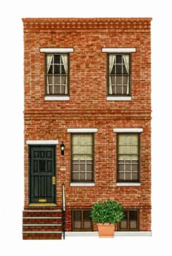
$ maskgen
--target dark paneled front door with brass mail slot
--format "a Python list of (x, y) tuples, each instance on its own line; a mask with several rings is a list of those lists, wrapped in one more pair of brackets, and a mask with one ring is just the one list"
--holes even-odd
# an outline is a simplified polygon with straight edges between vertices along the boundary
[(30, 203), (55, 203), (55, 146), (29, 147)]

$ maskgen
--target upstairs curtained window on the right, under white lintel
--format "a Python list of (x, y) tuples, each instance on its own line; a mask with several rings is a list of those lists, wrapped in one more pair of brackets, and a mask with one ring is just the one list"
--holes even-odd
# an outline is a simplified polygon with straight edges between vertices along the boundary
[(108, 54), (108, 95), (130, 96), (130, 54)]

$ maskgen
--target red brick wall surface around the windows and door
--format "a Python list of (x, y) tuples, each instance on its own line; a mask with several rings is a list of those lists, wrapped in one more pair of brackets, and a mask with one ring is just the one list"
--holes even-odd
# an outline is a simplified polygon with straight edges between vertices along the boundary
[[(111, 198), (140, 208), (140, 230), (151, 230), (151, 45), (149, 18), (23, 19), (25, 140), (59, 140), (57, 203), (61, 184), (68, 208), (91, 207)], [(70, 53), (70, 100), (44, 100), (44, 53), (40, 48), (74, 48)], [(106, 101), (106, 53), (101, 48), (136, 48), (132, 53), (131, 101)], [(97, 128), (95, 187), (70, 187), (70, 134), (67, 128)], [(116, 187), (116, 133), (143, 128), (141, 187)], [(66, 171), (60, 170), (66, 167)], [(28, 146), (25, 145), (25, 208), (28, 207)], [(67, 229), (71, 229), (70, 209)]]

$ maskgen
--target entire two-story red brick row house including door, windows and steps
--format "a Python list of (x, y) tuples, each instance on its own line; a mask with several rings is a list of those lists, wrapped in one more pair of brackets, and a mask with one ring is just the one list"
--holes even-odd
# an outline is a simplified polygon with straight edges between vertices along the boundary
[(150, 25), (23, 18), (23, 239), (60, 238), (64, 194), (66, 235), (93, 234), (108, 198), (125, 210), (117, 233), (151, 234)]

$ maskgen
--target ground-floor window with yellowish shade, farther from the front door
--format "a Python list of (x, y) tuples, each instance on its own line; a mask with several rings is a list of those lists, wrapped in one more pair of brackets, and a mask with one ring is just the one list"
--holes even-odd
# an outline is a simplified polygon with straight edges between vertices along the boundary
[(117, 181), (139, 181), (139, 134), (117, 135)]

